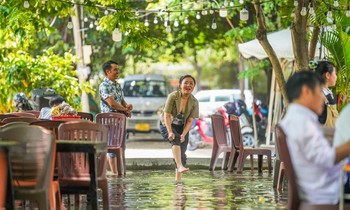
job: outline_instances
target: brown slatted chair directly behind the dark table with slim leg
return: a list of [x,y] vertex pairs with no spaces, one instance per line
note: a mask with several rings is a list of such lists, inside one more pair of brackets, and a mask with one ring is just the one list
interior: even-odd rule
[[[105,125],[89,121],[71,121],[62,123],[58,128],[58,137],[71,141],[107,142],[108,128]],[[80,194],[89,192],[89,159],[85,153],[58,153],[58,180],[62,194]],[[96,154],[97,183],[102,189],[103,209],[109,209],[108,183],[106,176],[106,153]],[[91,172],[94,173],[94,172]]]

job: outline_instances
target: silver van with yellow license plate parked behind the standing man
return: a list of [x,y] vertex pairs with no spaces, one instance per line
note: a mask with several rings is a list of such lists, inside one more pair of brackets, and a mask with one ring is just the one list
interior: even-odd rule
[[127,132],[159,132],[157,111],[164,106],[168,85],[161,75],[137,74],[124,78],[124,98],[133,105],[132,117],[126,123]]

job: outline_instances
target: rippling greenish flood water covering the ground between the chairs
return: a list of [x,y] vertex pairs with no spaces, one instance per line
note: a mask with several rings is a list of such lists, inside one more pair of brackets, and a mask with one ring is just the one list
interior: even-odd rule
[[[272,175],[193,170],[181,182],[174,171],[109,175],[111,209],[285,209],[287,194],[272,188]],[[100,202],[102,207],[102,202]]]

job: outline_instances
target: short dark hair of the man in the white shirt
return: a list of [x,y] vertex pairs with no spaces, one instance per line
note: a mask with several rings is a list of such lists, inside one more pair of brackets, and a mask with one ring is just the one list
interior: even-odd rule
[[298,99],[304,85],[315,91],[317,85],[323,85],[324,78],[309,70],[302,70],[293,74],[286,83],[288,101]]

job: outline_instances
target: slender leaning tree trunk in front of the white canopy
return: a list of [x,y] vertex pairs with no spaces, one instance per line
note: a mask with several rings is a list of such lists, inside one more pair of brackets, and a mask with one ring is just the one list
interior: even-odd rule
[[273,71],[275,72],[276,81],[278,84],[278,87],[280,89],[280,92],[284,99],[284,105],[285,107],[288,106],[288,97],[287,92],[285,88],[286,81],[284,80],[283,72],[281,64],[277,58],[277,55],[272,48],[271,44],[267,40],[266,36],[266,22],[265,22],[265,16],[260,6],[260,0],[254,0],[254,8],[256,11],[256,17],[257,17],[257,23],[258,23],[258,29],[256,32],[256,38],[259,40],[259,43],[264,48],[266,54],[268,55],[270,62],[272,64]]

